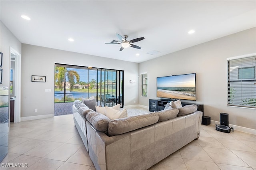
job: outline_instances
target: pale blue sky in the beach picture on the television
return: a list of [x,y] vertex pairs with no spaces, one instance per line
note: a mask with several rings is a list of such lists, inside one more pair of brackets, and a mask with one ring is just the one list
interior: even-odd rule
[[196,74],[157,77],[157,87],[195,87]]

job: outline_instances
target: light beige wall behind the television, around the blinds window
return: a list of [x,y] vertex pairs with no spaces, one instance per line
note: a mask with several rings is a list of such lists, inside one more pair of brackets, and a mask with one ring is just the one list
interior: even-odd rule
[[229,113],[230,124],[256,129],[256,109],[227,106],[226,59],[250,53],[256,53],[256,28],[142,62],[139,73],[148,73],[148,97],[140,96],[139,104],[148,106],[148,99],[156,98],[156,77],[196,73],[193,102],[204,104],[204,115],[220,121],[220,113]]

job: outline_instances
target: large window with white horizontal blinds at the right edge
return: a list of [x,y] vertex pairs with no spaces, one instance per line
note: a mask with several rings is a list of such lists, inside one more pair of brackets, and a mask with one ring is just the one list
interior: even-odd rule
[[256,55],[228,59],[228,105],[256,108]]

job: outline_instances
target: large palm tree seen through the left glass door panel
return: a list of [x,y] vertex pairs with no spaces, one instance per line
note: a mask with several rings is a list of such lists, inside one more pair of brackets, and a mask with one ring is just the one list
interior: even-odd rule
[[[76,82],[80,81],[80,75],[77,73],[77,71],[74,70],[67,70],[66,67],[55,67],[55,83],[59,87],[59,89],[62,91],[62,83],[66,83],[66,78],[68,82],[70,83],[70,92],[74,88],[75,80]],[[64,88],[64,93],[66,93],[66,88]]]

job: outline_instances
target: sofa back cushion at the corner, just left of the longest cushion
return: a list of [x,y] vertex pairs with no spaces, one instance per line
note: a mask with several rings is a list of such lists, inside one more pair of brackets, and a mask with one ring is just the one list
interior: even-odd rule
[[108,133],[108,123],[110,122],[110,119],[105,115],[91,111],[87,113],[86,119],[100,132]]

